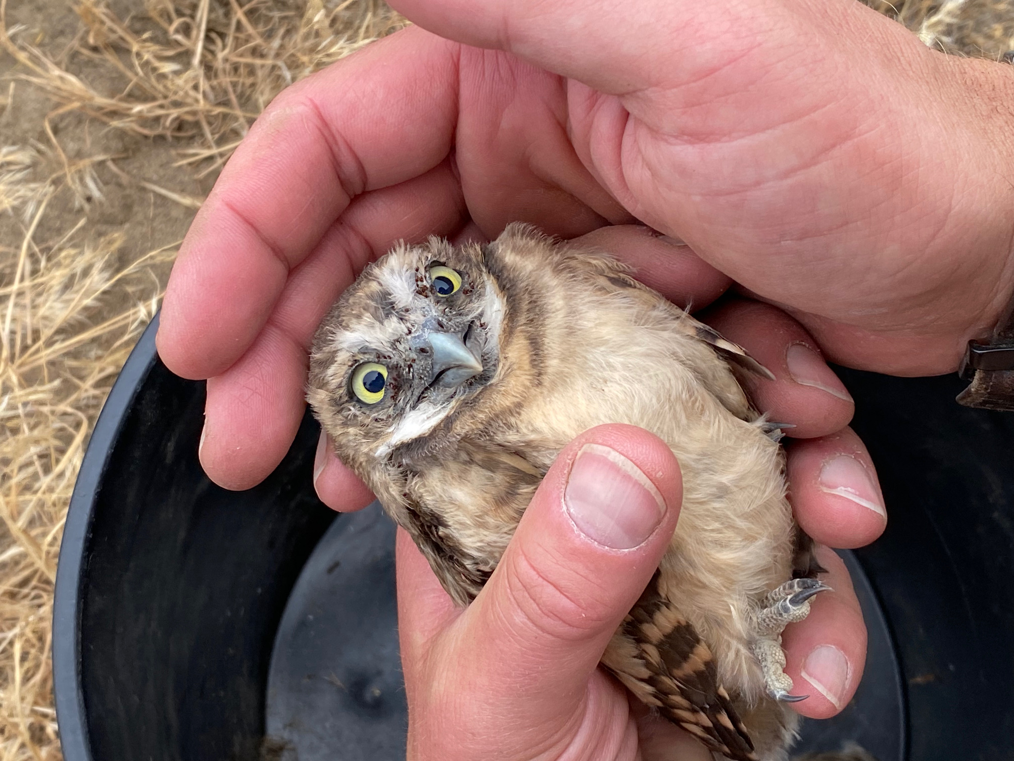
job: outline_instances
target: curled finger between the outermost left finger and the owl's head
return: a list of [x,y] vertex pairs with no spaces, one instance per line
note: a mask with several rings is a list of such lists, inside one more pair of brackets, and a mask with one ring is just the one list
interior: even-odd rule
[[289,275],[252,345],[208,380],[200,455],[215,483],[249,488],[285,457],[303,415],[313,333],[363,267],[399,239],[451,234],[465,219],[460,188],[447,161],[352,202]]

